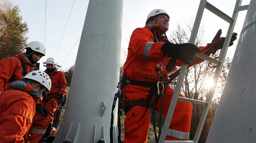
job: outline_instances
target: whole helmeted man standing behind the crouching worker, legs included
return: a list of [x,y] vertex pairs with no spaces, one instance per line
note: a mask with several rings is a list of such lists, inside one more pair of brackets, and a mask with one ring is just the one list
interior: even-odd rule
[[[25,53],[19,53],[16,57],[7,57],[0,60],[0,93],[7,90],[11,82],[21,80],[26,74],[37,70],[35,63],[46,54],[45,46],[39,41],[29,42],[24,48],[26,49]],[[48,127],[48,122],[46,122],[46,120],[50,120],[50,116],[46,116],[48,112],[48,110],[42,110],[38,101],[33,125],[29,132],[34,139],[39,138],[35,143],[44,135],[44,133],[38,134],[37,132],[43,132]]]

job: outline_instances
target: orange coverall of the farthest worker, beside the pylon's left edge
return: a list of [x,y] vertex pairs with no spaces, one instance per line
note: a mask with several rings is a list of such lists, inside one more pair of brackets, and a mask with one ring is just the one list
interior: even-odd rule
[[48,74],[48,76],[51,78],[52,87],[50,93],[48,94],[50,99],[46,99],[46,102],[41,102],[41,105],[43,107],[46,107],[50,111],[50,122],[53,122],[54,112],[59,106],[57,99],[61,94],[63,94],[64,96],[66,95],[67,81],[65,78],[65,74],[62,71],[58,71],[57,68],[55,68],[55,70],[51,73],[49,73],[47,70],[45,70],[44,72],[46,72],[46,74]]

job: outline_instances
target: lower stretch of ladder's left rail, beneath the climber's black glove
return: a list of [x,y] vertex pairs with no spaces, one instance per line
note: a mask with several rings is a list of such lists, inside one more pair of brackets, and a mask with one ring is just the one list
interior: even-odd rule
[[174,114],[174,109],[175,109],[176,103],[178,101],[178,97],[179,97],[179,94],[180,94],[180,89],[181,89],[181,86],[182,86],[182,83],[183,83],[183,80],[184,80],[184,77],[185,77],[185,74],[186,74],[186,71],[187,71],[187,67],[188,67],[187,64],[182,63],[182,67],[180,69],[180,74],[179,74],[179,77],[178,77],[178,81],[177,81],[177,84],[175,86],[174,94],[173,94],[172,99],[171,99],[171,103],[170,103],[170,106],[169,106],[169,109],[168,109],[168,112],[167,112],[167,115],[166,115],[166,118],[165,118],[165,122],[164,122],[164,125],[163,125],[161,135],[159,137],[158,143],[164,143],[165,142],[165,137],[167,135],[167,132],[168,132],[168,129],[169,129],[169,126],[170,126],[170,123],[171,123],[171,118]]

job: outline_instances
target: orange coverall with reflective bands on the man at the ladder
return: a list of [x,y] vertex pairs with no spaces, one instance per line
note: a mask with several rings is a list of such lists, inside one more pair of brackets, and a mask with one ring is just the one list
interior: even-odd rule
[[[147,27],[148,26],[148,27]],[[167,37],[156,40],[156,29],[160,32],[159,26],[146,25],[143,28],[137,28],[133,31],[128,46],[128,56],[124,63],[124,75],[130,80],[140,82],[156,83],[158,82],[157,64],[163,63],[163,79],[168,76],[171,71],[166,71],[165,67],[170,57],[163,56],[161,47],[167,41]],[[153,35],[154,34],[154,35]],[[206,47],[200,47],[201,51]],[[176,60],[176,66],[181,66],[182,61]],[[125,97],[124,102],[143,99],[147,100],[150,88],[128,84],[124,86]],[[174,89],[166,87],[163,91],[163,116],[166,117]],[[183,95],[179,95],[184,97]],[[152,105],[154,97],[151,100]],[[156,103],[156,108],[160,111],[161,97]],[[192,104],[184,101],[178,101],[166,140],[188,140],[191,125]],[[150,126],[150,115],[148,108],[136,105],[126,112],[124,120],[124,142],[125,143],[147,143],[148,129]]]

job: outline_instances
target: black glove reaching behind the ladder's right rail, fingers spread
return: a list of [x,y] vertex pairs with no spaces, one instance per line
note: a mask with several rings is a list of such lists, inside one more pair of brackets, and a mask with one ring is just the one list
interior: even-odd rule
[[[217,41],[217,40],[220,38],[221,33],[222,33],[222,30],[219,29],[219,31],[217,32],[217,34],[216,34],[215,37],[213,38],[212,43],[215,42],[215,41]],[[234,32],[234,33],[232,34],[232,37],[231,37],[229,46],[232,46],[232,45],[234,44],[233,42],[234,42],[234,40],[236,40],[236,38],[237,38],[236,36],[237,36],[237,33]],[[224,41],[225,41],[225,38],[222,39],[221,42],[219,42],[219,43],[213,48],[213,50],[216,51],[216,50],[221,49],[221,48],[223,47]],[[210,43],[210,44],[212,44],[212,43]]]

